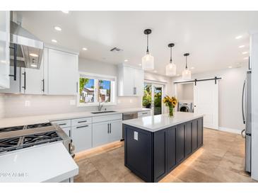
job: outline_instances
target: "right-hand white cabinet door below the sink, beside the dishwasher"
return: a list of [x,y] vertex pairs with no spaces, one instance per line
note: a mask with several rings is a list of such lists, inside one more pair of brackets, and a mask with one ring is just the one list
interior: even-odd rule
[[115,142],[122,139],[122,120],[112,120],[110,122],[110,133],[108,142]]

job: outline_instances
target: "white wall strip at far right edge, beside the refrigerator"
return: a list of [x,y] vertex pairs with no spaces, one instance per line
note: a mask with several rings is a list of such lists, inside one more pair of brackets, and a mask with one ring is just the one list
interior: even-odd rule
[[252,65],[252,178],[258,181],[258,33],[251,39]]

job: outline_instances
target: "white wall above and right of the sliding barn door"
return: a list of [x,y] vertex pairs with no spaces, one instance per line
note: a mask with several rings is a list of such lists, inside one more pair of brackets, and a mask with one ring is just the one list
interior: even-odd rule
[[[247,67],[240,67],[192,75],[192,79],[205,79],[214,76],[223,78],[218,85],[218,126],[221,130],[240,132],[245,128],[242,123],[242,84],[246,72]],[[180,80],[181,77],[173,79],[173,81]],[[175,93],[175,84],[172,84],[172,93]]]

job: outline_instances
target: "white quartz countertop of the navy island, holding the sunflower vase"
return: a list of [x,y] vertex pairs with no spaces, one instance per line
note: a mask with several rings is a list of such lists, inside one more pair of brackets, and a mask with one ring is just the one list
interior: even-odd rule
[[203,117],[203,114],[197,113],[183,113],[176,112],[173,118],[170,118],[168,114],[148,116],[144,118],[136,118],[131,120],[124,120],[123,123],[126,125],[131,125],[133,127],[138,127],[142,130],[147,130],[150,132],[156,132],[158,130],[163,130],[168,127],[172,127],[189,120],[194,120]]

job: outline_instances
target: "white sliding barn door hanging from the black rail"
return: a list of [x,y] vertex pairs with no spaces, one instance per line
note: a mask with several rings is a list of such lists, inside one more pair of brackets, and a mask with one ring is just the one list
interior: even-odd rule
[[218,130],[218,81],[198,81],[194,85],[194,113],[204,114],[204,127]]

